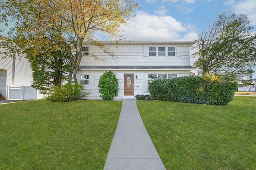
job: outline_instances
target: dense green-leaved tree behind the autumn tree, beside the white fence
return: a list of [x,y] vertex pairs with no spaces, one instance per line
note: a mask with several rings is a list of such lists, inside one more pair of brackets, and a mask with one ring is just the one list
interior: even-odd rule
[[70,70],[68,53],[55,38],[56,35],[50,34],[40,39],[30,38],[26,44],[31,45],[24,50],[33,71],[32,87],[41,94],[50,94],[56,86],[61,86],[64,80],[67,81]]

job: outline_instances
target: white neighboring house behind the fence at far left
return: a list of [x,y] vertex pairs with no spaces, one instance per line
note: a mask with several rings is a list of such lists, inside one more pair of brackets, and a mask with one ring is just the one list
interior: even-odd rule
[[[7,39],[0,35],[0,41]],[[0,48],[0,52],[4,51]],[[4,58],[3,58],[4,57]],[[31,86],[32,70],[27,59],[4,56],[0,54],[0,94],[7,97],[7,86]]]

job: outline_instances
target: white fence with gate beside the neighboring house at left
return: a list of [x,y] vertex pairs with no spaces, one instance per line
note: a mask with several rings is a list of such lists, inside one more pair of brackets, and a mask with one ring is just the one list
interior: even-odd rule
[[37,99],[37,90],[31,86],[7,86],[7,100],[35,100]]

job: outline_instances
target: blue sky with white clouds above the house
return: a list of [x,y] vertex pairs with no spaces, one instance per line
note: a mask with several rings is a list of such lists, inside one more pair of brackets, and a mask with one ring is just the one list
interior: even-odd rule
[[[135,18],[122,26],[126,40],[192,41],[208,29],[219,14],[245,14],[256,27],[256,0],[134,0]],[[256,33],[256,28],[252,30]],[[7,36],[5,33],[1,33]],[[108,40],[103,34],[99,40]],[[191,65],[194,60],[191,60]],[[256,69],[255,69],[256,71]],[[256,78],[256,73],[254,77]]]

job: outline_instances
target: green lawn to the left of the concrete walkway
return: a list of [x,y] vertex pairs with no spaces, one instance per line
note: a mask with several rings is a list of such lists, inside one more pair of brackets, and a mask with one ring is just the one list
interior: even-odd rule
[[103,169],[121,107],[93,100],[0,105],[0,169]]

